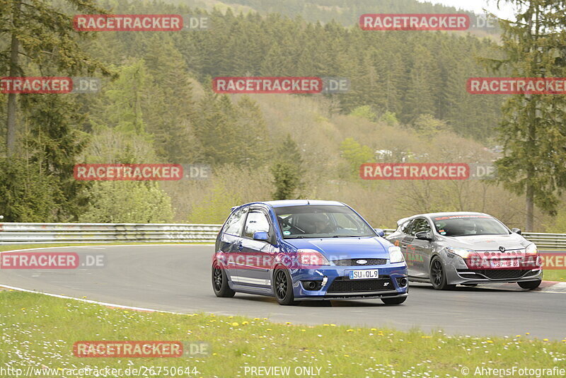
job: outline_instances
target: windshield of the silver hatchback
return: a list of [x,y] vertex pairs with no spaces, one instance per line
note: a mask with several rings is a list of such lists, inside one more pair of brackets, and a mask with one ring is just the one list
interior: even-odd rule
[[487,215],[449,215],[433,217],[434,227],[443,236],[502,235],[509,229]]

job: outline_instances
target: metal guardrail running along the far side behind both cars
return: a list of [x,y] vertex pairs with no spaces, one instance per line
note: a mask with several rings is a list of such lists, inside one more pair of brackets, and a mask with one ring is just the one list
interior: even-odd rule
[[[221,224],[0,223],[0,244],[212,242]],[[383,229],[390,235],[394,229]],[[566,234],[524,232],[539,248],[565,249]]]

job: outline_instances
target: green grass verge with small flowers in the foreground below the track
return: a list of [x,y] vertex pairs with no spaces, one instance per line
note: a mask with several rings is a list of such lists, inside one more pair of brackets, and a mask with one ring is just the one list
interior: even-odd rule
[[[566,340],[536,340],[526,333],[487,338],[333,324],[301,326],[241,316],[110,309],[8,290],[0,291],[0,314],[0,367],[24,370],[29,365],[196,367],[200,373],[191,377],[245,377],[246,366],[288,366],[291,371],[306,366],[320,367],[320,377],[461,377],[464,366],[474,370],[566,364]],[[211,353],[161,359],[79,358],[72,354],[72,345],[79,340],[202,341],[211,345]]]

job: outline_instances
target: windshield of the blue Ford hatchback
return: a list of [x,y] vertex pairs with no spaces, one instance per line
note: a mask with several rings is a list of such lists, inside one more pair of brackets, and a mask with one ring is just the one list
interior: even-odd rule
[[276,207],[284,239],[376,236],[350,207],[303,205]]

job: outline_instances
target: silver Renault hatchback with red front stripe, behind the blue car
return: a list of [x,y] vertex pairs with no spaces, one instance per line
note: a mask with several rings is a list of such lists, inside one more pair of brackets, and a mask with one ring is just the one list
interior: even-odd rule
[[536,245],[488,214],[438,212],[400,219],[387,239],[399,246],[409,280],[434,289],[490,282],[541,285],[543,270]]

